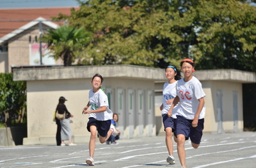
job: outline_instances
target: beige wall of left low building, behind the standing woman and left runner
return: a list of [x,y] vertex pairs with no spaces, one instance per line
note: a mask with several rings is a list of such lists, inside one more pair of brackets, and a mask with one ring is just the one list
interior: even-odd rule
[[[86,129],[88,115],[81,115],[81,112],[88,102],[88,91],[92,89],[90,81],[91,79],[27,81],[28,138],[24,139],[24,144],[30,144],[31,139],[33,139],[33,143],[37,142],[38,144],[55,142],[56,123],[52,122],[52,118],[60,96],[64,96],[68,100],[65,104],[68,111],[74,115],[74,118],[72,118],[74,123],[70,124],[73,140],[75,143],[88,142],[90,136],[90,132]],[[124,94],[129,88],[133,88],[135,93],[138,89],[142,89],[145,93],[147,90],[154,92],[154,82],[146,80],[136,80],[134,82],[128,78],[104,78],[102,88],[104,87],[113,89],[114,104],[113,108],[111,108],[113,113],[117,113],[118,100],[116,98],[116,90],[118,88],[122,88]],[[126,97],[126,94],[124,97]],[[126,109],[128,108],[126,101],[124,103],[125,113],[127,113]],[[136,117],[135,113],[136,109],[134,117]],[[127,116],[127,114],[124,115]],[[154,114],[152,118],[154,120]],[[120,120],[118,124],[124,126],[122,138],[128,138],[127,120]],[[136,137],[138,136],[136,134],[136,129],[138,129],[136,124],[134,129],[134,137]],[[144,129],[143,136],[148,136],[146,134],[148,128],[145,123]],[[153,132],[153,136],[156,136],[155,124],[153,130],[150,131]]]

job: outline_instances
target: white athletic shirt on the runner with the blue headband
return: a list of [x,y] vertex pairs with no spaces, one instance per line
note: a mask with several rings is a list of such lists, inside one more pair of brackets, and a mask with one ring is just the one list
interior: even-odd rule
[[[172,106],[172,104],[167,104],[166,101],[169,99],[174,99],[177,95],[176,84],[177,84],[177,81],[175,81],[174,83],[168,83],[168,82],[164,83],[162,115],[168,113],[170,107]],[[178,104],[172,110],[172,118],[177,118],[176,117],[177,106]]]

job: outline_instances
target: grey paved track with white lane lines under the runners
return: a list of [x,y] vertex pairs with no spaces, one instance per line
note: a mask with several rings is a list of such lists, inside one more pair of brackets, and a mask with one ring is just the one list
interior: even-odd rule
[[[117,145],[96,144],[94,167],[180,167],[166,162],[164,137],[121,139]],[[198,149],[186,141],[188,168],[256,167],[256,132],[204,134]],[[0,167],[86,167],[88,144],[77,146],[0,146]]]

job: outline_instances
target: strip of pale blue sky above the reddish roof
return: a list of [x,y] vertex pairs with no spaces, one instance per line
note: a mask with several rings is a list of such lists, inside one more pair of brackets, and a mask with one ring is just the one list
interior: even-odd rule
[[0,0],[0,8],[40,8],[79,6],[75,0]]

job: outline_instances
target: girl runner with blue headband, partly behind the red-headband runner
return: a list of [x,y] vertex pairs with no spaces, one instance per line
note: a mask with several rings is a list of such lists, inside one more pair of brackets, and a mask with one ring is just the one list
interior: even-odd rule
[[168,82],[164,83],[163,88],[163,104],[160,106],[162,111],[164,131],[165,131],[165,143],[169,153],[166,162],[171,165],[175,164],[173,157],[173,143],[172,143],[172,132],[175,130],[175,114],[173,110],[172,117],[168,117],[167,113],[172,105],[174,98],[176,97],[176,84],[177,80],[181,79],[180,71],[175,66],[168,66],[165,69],[165,76]]

